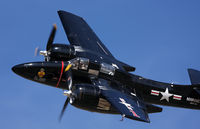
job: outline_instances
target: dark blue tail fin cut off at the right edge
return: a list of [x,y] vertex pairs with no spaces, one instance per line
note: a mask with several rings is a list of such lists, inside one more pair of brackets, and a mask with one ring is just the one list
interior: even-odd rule
[[188,69],[188,74],[192,85],[200,84],[200,71]]

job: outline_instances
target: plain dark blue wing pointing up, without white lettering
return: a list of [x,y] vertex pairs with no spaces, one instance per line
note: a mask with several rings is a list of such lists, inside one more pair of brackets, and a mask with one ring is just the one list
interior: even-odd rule
[[58,14],[71,45],[113,57],[83,18],[65,11]]

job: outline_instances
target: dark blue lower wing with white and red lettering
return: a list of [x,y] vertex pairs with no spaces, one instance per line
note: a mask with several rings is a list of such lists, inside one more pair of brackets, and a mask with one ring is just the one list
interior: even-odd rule
[[94,84],[97,83],[104,85],[99,86],[102,95],[121,113],[122,116],[138,121],[150,122],[146,104],[137,96],[129,96],[126,93],[122,93],[121,91],[112,88],[104,79],[99,79]]

